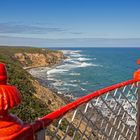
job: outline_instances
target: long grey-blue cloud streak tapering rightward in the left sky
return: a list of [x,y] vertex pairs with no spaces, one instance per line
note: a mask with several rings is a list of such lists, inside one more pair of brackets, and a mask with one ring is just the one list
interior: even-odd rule
[[63,32],[65,29],[58,27],[45,27],[39,25],[24,25],[16,23],[0,23],[0,33],[20,33],[20,34],[47,34],[50,32]]

